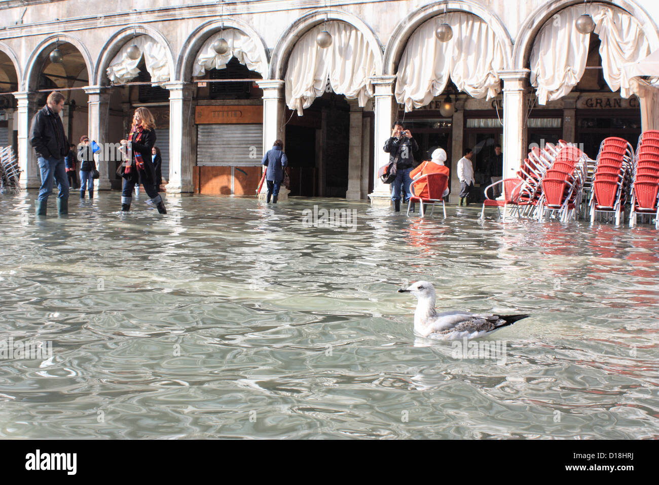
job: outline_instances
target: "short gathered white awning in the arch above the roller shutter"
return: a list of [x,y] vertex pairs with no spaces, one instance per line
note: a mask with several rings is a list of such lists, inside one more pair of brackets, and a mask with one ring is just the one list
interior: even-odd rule
[[[213,49],[213,43],[220,37],[229,44],[229,50],[221,55]],[[231,61],[231,57],[238,59],[239,63],[245,65],[250,71],[256,71],[263,77],[268,75],[268,65],[262,59],[256,42],[242,30],[236,28],[227,28],[204,42],[194,59],[192,75],[203,76],[206,71],[211,69],[224,69]]]

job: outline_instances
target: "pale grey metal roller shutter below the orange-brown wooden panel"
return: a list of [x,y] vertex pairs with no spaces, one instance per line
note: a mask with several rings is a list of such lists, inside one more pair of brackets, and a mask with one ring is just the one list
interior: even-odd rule
[[197,125],[198,166],[258,166],[263,157],[263,125]]

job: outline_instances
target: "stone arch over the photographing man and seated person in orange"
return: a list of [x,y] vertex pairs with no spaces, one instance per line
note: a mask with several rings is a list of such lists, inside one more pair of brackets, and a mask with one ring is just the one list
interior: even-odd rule
[[409,40],[416,28],[426,22],[426,20],[442,15],[444,8],[447,12],[470,13],[484,20],[494,30],[494,33],[500,40],[505,52],[505,69],[510,69],[511,59],[513,58],[513,42],[501,19],[483,5],[471,0],[441,0],[416,9],[410,15],[403,18],[393,30],[391,38],[387,42],[387,48],[384,51],[385,75],[395,75],[398,61],[401,55],[403,55],[405,46],[407,46],[407,40]]

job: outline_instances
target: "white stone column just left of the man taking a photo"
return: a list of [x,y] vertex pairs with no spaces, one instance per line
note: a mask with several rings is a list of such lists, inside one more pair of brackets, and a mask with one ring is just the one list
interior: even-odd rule
[[391,186],[382,183],[378,178],[378,169],[389,163],[389,154],[382,147],[391,137],[391,123],[395,115],[395,100],[393,97],[393,84],[395,76],[374,76],[371,82],[375,86],[375,136],[374,149],[374,171],[373,191],[368,194],[371,203],[391,204]]

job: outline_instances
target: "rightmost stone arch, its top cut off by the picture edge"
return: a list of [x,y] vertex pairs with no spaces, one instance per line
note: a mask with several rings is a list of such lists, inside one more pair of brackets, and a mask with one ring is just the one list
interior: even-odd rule
[[[603,5],[618,7],[629,13],[638,20],[643,33],[648,38],[652,50],[659,48],[659,34],[656,23],[634,0],[602,0],[595,1]],[[515,40],[515,49],[513,49],[513,66],[514,69],[525,69],[529,67],[529,55],[535,42],[536,36],[544,24],[556,15],[559,11],[572,7],[573,5],[583,5],[581,0],[554,0],[548,2],[542,7],[536,9],[527,16],[526,20],[519,27],[519,34]]]

